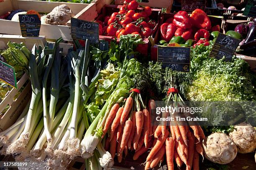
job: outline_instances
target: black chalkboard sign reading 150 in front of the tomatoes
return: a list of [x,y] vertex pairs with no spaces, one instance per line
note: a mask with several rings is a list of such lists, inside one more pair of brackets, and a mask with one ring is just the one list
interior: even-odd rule
[[91,44],[99,43],[99,23],[71,18],[71,36],[78,40],[90,40]]

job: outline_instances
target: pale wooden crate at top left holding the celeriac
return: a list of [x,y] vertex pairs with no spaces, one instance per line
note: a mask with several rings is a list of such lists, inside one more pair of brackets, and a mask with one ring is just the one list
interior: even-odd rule
[[[96,4],[80,4],[80,3],[66,3],[66,2],[48,2],[48,1],[36,1],[36,0],[5,0],[0,2],[0,15],[11,10],[36,10],[39,13],[49,13],[51,10],[62,4],[67,4],[72,12],[75,14],[74,18],[80,20],[94,20],[97,16]],[[21,35],[19,22],[10,20],[0,20],[0,33]],[[69,27],[70,21],[67,26],[63,25],[49,25],[42,24],[40,29],[40,35],[46,36],[46,39],[56,40],[59,37],[63,37],[66,41],[72,41],[71,29]]]

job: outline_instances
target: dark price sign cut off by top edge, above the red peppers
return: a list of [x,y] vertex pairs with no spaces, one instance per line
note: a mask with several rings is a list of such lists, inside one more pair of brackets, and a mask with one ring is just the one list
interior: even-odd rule
[[206,0],[182,0],[182,10],[193,11],[195,9],[205,10]]

